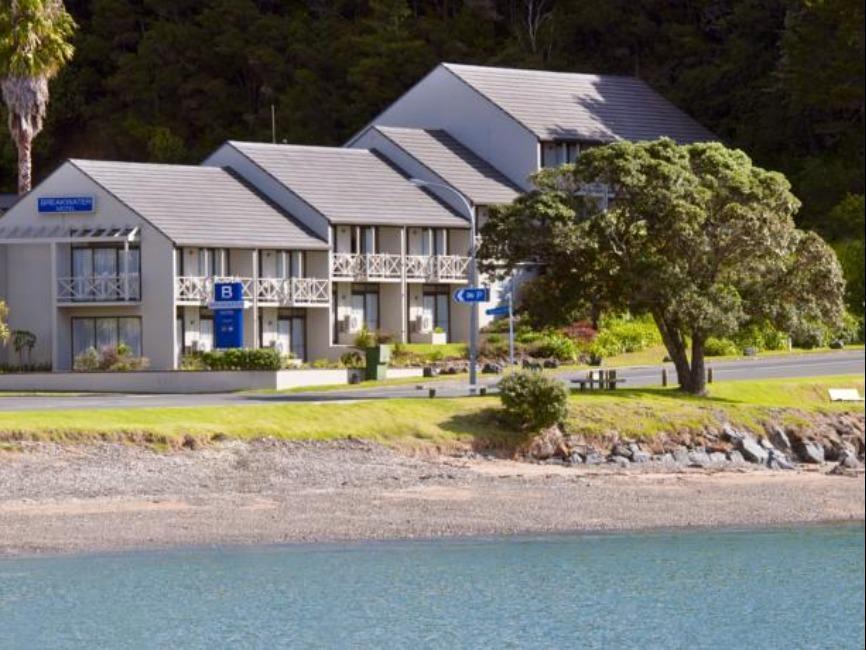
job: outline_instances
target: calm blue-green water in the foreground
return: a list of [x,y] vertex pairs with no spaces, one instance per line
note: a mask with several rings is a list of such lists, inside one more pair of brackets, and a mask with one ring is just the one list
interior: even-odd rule
[[862,648],[862,526],[0,561],[2,648]]

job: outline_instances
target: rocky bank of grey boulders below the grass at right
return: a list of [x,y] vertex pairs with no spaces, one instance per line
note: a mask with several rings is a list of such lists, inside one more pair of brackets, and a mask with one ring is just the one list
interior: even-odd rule
[[[547,465],[646,466],[660,471],[686,467],[730,469],[744,466],[794,470],[800,465],[832,463],[835,474],[863,470],[863,414],[816,414],[797,424],[767,422],[757,433],[724,423],[719,428],[661,434],[635,440],[566,435],[558,426],[542,431],[518,450],[518,456]],[[469,457],[476,457],[472,452]]]

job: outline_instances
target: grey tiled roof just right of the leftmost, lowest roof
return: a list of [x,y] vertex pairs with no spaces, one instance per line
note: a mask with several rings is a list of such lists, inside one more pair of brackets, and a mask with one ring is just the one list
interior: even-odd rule
[[331,223],[465,227],[466,220],[367,149],[258,142],[230,146]]

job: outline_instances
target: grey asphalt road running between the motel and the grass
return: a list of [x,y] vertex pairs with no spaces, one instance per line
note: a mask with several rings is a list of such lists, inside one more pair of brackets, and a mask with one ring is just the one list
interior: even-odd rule
[[[676,380],[670,364],[667,364],[671,383]],[[710,363],[715,381],[732,379],[767,379],[784,377],[811,377],[820,375],[859,374],[866,372],[866,356],[863,350],[830,352],[825,354],[793,355],[786,357],[761,357],[737,361]],[[586,371],[563,372],[564,381],[574,377],[585,377]],[[617,376],[626,380],[626,387],[657,386],[661,384],[661,366],[617,368]],[[492,386],[498,380],[493,376],[482,376],[482,383]],[[419,389],[422,386],[423,389]],[[439,380],[401,386],[379,388],[347,388],[346,390],[304,393],[208,393],[186,395],[139,395],[121,393],[99,393],[86,395],[32,395],[16,396],[0,393],[0,411],[36,411],[94,408],[139,408],[164,406],[256,406],[288,402],[330,402],[395,397],[427,398],[427,388],[435,388],[437,396],[457,397],[467,394],[465,378],[449,381]]]

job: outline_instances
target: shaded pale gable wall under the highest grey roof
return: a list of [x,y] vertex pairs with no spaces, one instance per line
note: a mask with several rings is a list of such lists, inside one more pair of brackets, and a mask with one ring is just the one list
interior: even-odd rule
[[[540,150],[535,135],[442,66],[372,123],[445,129],[525,190],[531,187],[528,177],[539,168]],[[347,146],[355,146],[356,139]]]

